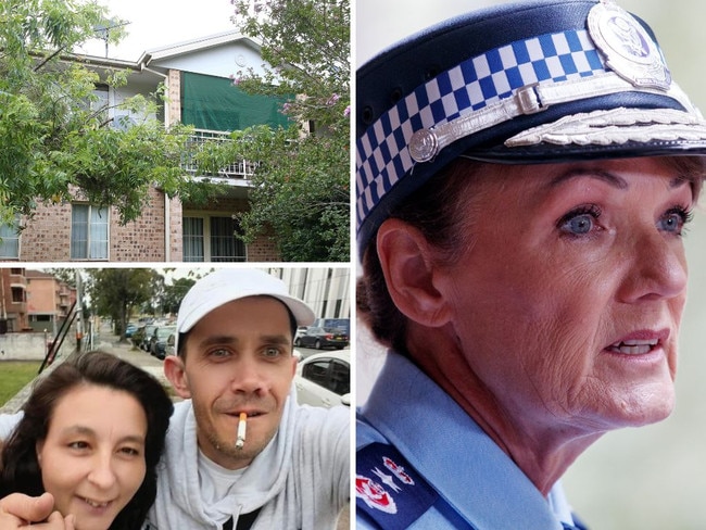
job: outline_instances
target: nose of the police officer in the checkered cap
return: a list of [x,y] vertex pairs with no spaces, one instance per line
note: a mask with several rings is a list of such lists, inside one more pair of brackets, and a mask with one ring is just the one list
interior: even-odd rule
[[631,267],[623,285],[626,302],[673,299],[686,291],[686,257],[680,239],[645,230],[633,239]]

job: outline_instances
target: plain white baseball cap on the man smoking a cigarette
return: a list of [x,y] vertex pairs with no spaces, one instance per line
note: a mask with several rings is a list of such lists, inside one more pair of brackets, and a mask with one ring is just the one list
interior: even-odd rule
[[197,281],[181,301],[177,315],[177,333],[189,331],[216,307],[247,296],[274,296],[294,315],[298,326],[311,326],[314,312],[303,301],[289,294],[279,278],[254,268],[220,268]]

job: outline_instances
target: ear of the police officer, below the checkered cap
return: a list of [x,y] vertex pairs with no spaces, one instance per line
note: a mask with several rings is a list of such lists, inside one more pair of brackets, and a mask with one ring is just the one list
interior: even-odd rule
[[424,326],[446,324],[449,308],[434,285],[438,265],[427,238],[403,220],[387,219],[378,229],[377,250],[388,291],[402,314]]

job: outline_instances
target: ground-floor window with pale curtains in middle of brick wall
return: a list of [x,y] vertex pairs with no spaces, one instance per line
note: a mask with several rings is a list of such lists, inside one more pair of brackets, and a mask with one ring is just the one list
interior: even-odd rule
[[108,209],[73,204],[71,258],[108,260]]

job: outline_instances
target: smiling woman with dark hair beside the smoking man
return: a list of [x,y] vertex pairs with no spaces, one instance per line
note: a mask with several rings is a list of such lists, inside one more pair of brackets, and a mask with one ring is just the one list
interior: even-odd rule
[[140,528],[172,412],[140,368],[103,352],[67,359],[34,389],[2,446],[0,499],[48,492],[78,530]]

